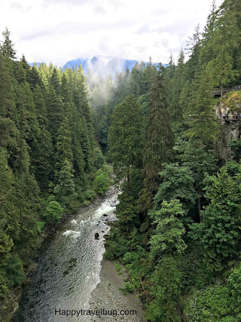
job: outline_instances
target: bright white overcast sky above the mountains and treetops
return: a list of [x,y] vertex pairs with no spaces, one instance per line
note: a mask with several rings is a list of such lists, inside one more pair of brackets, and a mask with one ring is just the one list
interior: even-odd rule
[[[217,0],[217,5],[221,4]],[[29,62],[94,55],[168,62],[178,55],[212,0],[8,0],[0,1],[0,29],[6,26],[18,56]]]

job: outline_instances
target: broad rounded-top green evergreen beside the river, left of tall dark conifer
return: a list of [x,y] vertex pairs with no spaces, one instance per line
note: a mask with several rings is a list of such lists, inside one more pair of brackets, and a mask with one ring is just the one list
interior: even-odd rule
[[116,215],[120,229],[129,235],[139,224],[138,192],[141,189],[143,150],[142,110],[133,95],[115,107],[111,116],[108,144],[114,173],[118,180],[125,179]]

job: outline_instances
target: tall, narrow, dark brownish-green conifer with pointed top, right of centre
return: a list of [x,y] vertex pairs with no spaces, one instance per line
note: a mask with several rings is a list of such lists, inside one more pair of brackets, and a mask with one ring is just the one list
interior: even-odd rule
[[144,189],[140,196],[144,211],[152,208],[152,201],[160,183],[158,173],[162,170],[162,164],[170,162],[173,157],[174,138],[167,110],[166,90],[163,85],[163,67],[161,64],[159,68],[159,75],[156,76],[150,92],[147,111],[143,170]]

